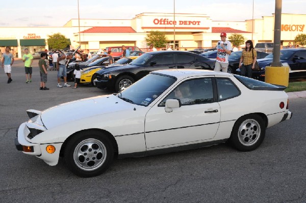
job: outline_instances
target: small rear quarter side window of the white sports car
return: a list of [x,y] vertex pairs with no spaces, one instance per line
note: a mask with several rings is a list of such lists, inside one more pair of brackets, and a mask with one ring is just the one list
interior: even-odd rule
[[218,101],[223,101],[228,98],[236,97],[240,91],[229,78],[216,78],[218,89]]

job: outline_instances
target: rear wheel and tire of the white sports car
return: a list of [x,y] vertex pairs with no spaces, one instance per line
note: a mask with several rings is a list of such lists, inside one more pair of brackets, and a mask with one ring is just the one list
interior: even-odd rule
[[237,150],[247,152],[257,149],[265,134],[264,120],[257,114],[249,114],[236,121],[229,141]]

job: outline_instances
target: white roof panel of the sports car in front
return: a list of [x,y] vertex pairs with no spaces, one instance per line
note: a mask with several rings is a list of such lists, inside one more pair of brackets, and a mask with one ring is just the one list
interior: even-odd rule
[[152,71],[151,73],[159,73],[164,75],[169,75],[176,77],[177,79],[182,79],[191,76],[233,76],[230,73],[223,73],[223,72],[215,72],[211,70],[200,70],[200,69],[171,69],[171,70],[158,70]]

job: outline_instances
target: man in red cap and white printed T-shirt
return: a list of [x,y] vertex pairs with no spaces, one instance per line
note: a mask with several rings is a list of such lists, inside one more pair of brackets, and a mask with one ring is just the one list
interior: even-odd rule
[[227,72],[228,67],[228,55],[232,53],[232,44],[226,40],[226,33],[220,34],[221,40],[217,43],[217,60],[214,71]]

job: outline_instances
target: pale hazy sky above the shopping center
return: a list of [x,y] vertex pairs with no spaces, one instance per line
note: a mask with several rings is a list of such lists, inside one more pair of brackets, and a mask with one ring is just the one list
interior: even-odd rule
[[[245,21],[271,16],[275,0],[79,0],[80,19],[132,19],[140,13],[206,14],[214,21]],[[15,6],[16,5],[16,6]],[[306,0],[283,0],[282,13],[306,14]],[[1,4],[0,27],[63,26],[78,19],[78,0],[14,0]]]

